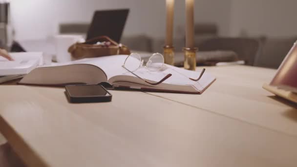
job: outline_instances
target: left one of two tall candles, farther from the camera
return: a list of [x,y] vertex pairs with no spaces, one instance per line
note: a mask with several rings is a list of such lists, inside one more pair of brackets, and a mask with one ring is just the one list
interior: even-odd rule
[[174,0],[166,0],[166,45],[172,46]]

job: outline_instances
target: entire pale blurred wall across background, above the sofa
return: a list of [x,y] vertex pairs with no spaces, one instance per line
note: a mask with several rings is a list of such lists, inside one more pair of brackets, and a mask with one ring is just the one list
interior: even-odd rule
[[[130,8],[124,35],[165,36],[165,0],[10,0],[17,40],[59,33],[59,24],[89,23],[100,9]],[[221,36],[296,35],[296,0],[195,0],[195,22]],[[185,1],[175,0],[175,37],[184,35]]]

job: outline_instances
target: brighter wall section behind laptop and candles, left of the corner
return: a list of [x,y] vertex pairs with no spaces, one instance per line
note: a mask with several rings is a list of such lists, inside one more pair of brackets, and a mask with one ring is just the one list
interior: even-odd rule
[[[185,0],[175,0],[175,37],[184,36]],[[164,38],[165,0],[11,0],[17,40],[58,33],[59,22],[89,22],[99,9],[130,8],[124,35]],[[195,21],[214,22],[221,35],[230,33],[231,0],[196,0]]]

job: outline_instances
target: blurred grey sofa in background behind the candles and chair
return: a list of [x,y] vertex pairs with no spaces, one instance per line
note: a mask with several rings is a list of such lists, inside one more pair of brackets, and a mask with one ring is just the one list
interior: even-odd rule
[[[201,46],[200,50],[203,49],[205,42],[208,42],[209,39],[212,39],[213,36],[201,36],[195,38],[195,44]],[[218,38],[220,39],[220,38]],[[222,38],[223,39],[223,38]],[[258,50],[253,52],[252,55],[244,56],[244,59],[249,60],[247,65],[267,67],[267,68],[278,68],[284,57],[289,52],[290,48],[293,46],[294,42],[297,40],[297,37],[288,37],[288,38],[267,38],[267,37],[258,37],[250,38],[254,41],[258,41],[259,47]],[[140,35],[134,37],[123,37],[122,41],[132,50],[139,50],[145,52],[163,52],[164,39],[151,39],[148,36]],[[182,48],[185,46],[184,39],[174,39],[173,45],[176,52],[181,52]],[[243,44],[242,50],[245,50],[245,45]],[[247,47],[250,47],[247,45]],[[238,49],[238,48],[237,48]],[[214,49],[217,50],[217,49]],[[231,49],[232,50],[232,49]],[[235,51],[235,50],[233,50]],[[236,52],[236,51],[235,51]],[[237,53],[237,52],[236,52]],[[238,54],[241,58],[240,54]]]

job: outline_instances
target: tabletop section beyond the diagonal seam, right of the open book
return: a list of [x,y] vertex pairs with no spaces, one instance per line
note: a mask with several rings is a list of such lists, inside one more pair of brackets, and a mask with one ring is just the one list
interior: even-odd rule
[[216,81],[202,96],[149,94],[297,137],[297,105],[262,88],[276,70],[237,65],[213,66],[206,71]]

